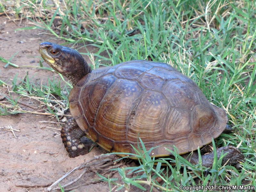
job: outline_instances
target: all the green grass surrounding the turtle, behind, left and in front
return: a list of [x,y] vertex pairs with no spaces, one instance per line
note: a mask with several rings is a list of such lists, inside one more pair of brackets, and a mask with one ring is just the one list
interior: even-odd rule
[[[171,64],[195,81],[210,102],[226,109],[228,123],[233,126],[234,132],[221,134],[215,141],[216,146],[239,144],[246,157],[240,171],[228,165],[221,166],[216,160],[217,163],[210,169],[212,174],[204,177],[201,173],[205,168],[200,164],[191,165],[176,153],[173,159],[159,160],[150,158],[147,153],[140,154],[139,167],[117,170],[122,183],[102,176],[110,190],[113,185],[117,185],[118,189],[129,189],[130,185],[143,189],[144,185],[149,185],[151,191],[157,186],[164,191],[168,191],[167,188],[179,190],[179,185],[197,185],[195,178],[199,178],[203,185],[255,186],[255,3],[255,0],[69,0],[53,9],[55,4],[43,1],[43,17],[37,17],[38,22],[30,17],[35,27],[23,30],[40,28],[52,33],[55,38],[65,40],[66,44],[72,43],[71,46],[78,43],[85,48],[94,46],[94,57],[91,58],[96,68],[134,59]],[[22,7],[13,5],[10,8],[2,3],[0,11],[13,12],[16,17],[24,17],[25,12],[38,16],[33,4],[36,5],[35,0],[22,4]],[[54,21],[59,19],[62,23],[53,29]],[[84,54],[90,56],[89,52]],[[0,80],[0,84],[4,84],[2,82]],[[53,92],[53,96],[58,95],[59,100],[64,100],[63,108],[68,108],[67,86],[60,88],[58,82],[52,84],[51,80],[48,85],[43,85],[45,89],[41,89],[41,85],[28,82],[24,80],[17,85],[13,81],[12,91],[20,96],[24,96],[24,92],[25,95],[40,96],[46,105]],[[61,90],[66,90],[67,94],[63,95]],[[11,98],[10,95],[9,105],[17,106]],[[7,108],[0,109],[3,115],[10,112]],[[48,112],[57,113],[52,109]],[[169,165],[170,161],[176,165]],[[157,162],[156,166],[154,162]],[[161,166],[164,163],[168,166]],[[129,178],[129,172],[143,174]],[[162,177],[164,182],[155,182],[156,177]]]

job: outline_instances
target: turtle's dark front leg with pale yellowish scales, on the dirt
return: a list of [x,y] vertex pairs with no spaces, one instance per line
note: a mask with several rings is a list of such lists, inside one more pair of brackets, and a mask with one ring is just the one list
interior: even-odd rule
[[85,136],[85,132],[78,127],[74,118],[69,119],[61,129],[61,138],[69,157],[88,153],[93,144],[92,140]]

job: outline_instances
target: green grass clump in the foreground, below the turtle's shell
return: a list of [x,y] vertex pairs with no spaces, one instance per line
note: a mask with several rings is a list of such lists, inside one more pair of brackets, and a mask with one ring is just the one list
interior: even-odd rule
[[[214,140],[212,141],[213,148],[216,150]],[[214,156],[212,169],[210,169],[210,174],[204,175],[204,171],[209,171],[209,169],[202,166],[199,149],[199,163],[193,165],[180,156],[177,153],[177,150],[169,150],[173,155],[172,157],[158,159],[150,157],[150,151],[152,148],[147,151],[142,140],[140,140],[139,143],[140,145],[138,145],[138,147],[133,147],[136,154],[114,153],[125,154],[139,159],[140,166],[113,169],[113,171],[115,170],[119,173],[123,184],[116,182],[117,178],[106,178],[98,174],[101,180],[106,181],[109,184],[116,185],[118,187],[116,190],[125,188],[129,191],[131,185],[133,185],[142,190],[146,190],[145,186],[149,186],[150,191],[152,191],[153,188],[158,188],[163,191],[179,191],[181,185],[184,187],[200,185],[204,186],[205,189],[206,185],[211,185],[213,187],[219,185],[242,185],[241,181],[248,176],[248,173],[246,173],[245,170],[238,172],[233,166],[222,166],[221,160],[225,154],[221,154],[220,159],[217,159],[216,154]],[[137,148],[139,148],[139,150]],[[175,164],[175,166],[173,166],[173,164]],[[227,174],[225,170],[228,170],[229,174]],[[136,176],[130,178],[129,174],[131,173],[134,173]],[[227,178],[230,177],[237,177],[238,174],[240,175],[236,178],[236,182],[227,180]],[[162,185],[158,183],[157,178],[162,180]],[[198,179],[200,180],[200,183],[198,183]],[[144,185],[144,187],[142,185]],[[255,181],[253,181],[251,185],[255,185]],[[218,189],[218,187],[216,188]]]

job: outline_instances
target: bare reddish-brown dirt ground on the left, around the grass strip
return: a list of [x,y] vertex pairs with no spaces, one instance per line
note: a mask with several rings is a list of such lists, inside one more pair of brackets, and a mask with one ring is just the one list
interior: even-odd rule
[[[38,66],[39,43],[44,41],[60,43],[60,41],[40,30],[15,31],[15,29],[28,26],[26,21],[16,25],[5,16],[0,17],[0,56],[9,60],[17,52],[12,63]],[[81,52],[81,50],[79,51]],[[85,59],[90,63],[89,58]],[[35,84],[41,84],[42,80],[47,84],[47,78],[59,78],[58,74],[47,70],[31,67],[14,68],[12,66],[3,68],[4,65],[5,63],[0,62],[0,79],[8,84],[11,84],[12,78],[16,74],[20,80],[27,72],[30,81]],[[44,63],[44,67],[49,66]],[[0,97],[3,97],[6,92],[5,88],[0,88]],[[28,102],[27,99],[22,98],[19,101]],[[32,100],[30,100],[30,104],[33,105]],[[23,105],[20,107],[24,110],[31,110]],[[20,132],[15,132],[17,137],[15,139],[12,132],[0,129],[0,191],[44,191],[44,187],[51,185],[66,172],[88,161],[93,156],[106,152],[99,147],[94,147],[85,156],[69,158],[62,144],[60,132],[46,128],[46,126],[60,128],[60,125],[43,124],[39,123],[40,121],[56,121],[56,119],[28,113],[0,116],[0,127],[12,126],[12,128],[20,130]],[[93,173],[93,175],[95,174]],[[88,173],[83,177],[82,182],[91,179],[93,179],[92,174]],[[109,188],[107,183],[100,182],[74,191],[104,192],[109,191]]]

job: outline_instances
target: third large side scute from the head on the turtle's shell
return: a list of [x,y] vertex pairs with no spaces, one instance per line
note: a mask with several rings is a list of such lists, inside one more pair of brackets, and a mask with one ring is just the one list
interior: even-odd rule
[[138,136],[144,142],[164,139],[163,119],[167,110],[167,102],[161,93],[144,91],[134,116],[129,120],[128,140],[136,142]]

